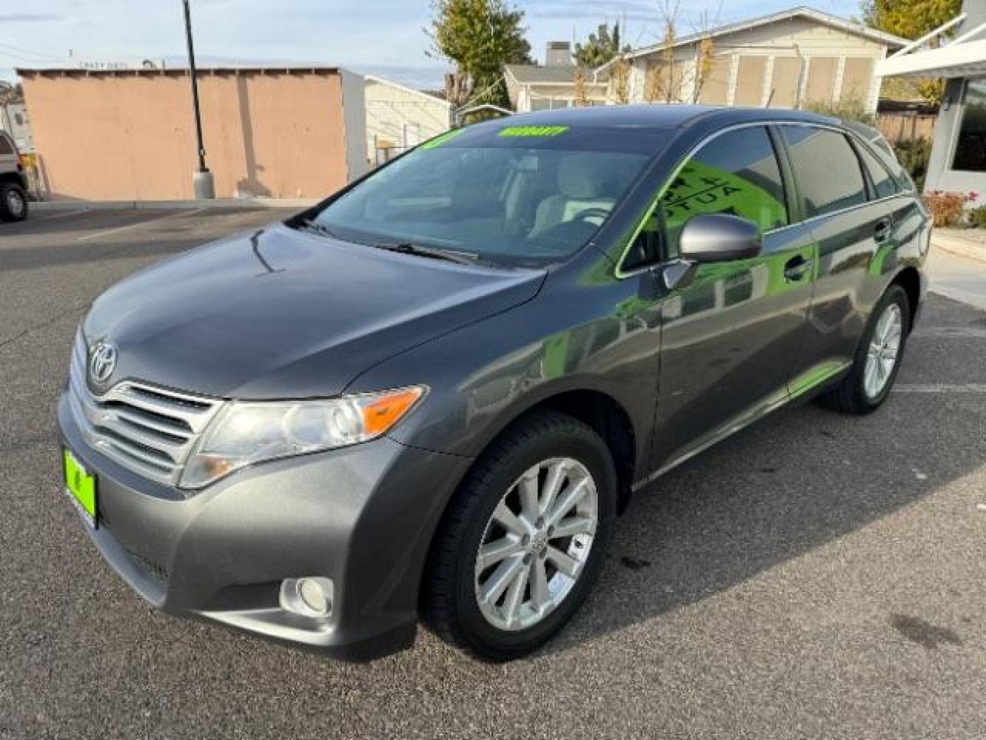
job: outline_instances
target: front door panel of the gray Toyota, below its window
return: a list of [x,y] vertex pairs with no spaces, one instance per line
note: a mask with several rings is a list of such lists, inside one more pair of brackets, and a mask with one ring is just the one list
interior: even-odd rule
[[811,300],[810,230],[768,234],[755,259],[703,265],[695,281],[662,305],[661,393],[651,469],[690,454],[751,408],[786,397]]

